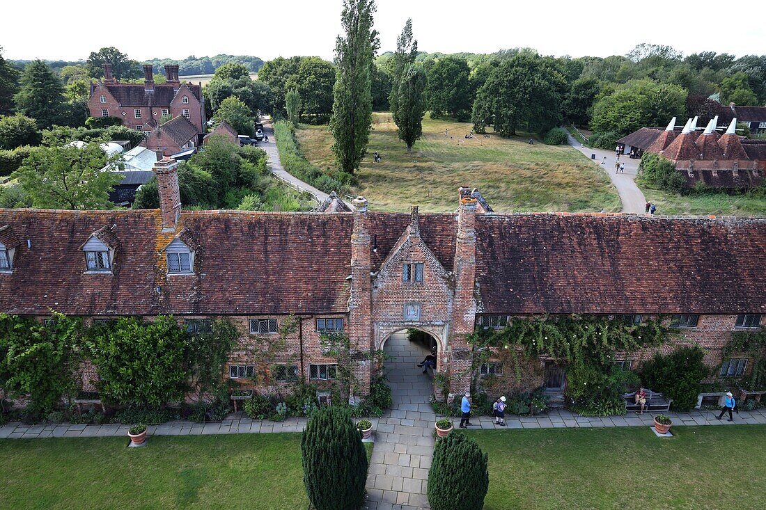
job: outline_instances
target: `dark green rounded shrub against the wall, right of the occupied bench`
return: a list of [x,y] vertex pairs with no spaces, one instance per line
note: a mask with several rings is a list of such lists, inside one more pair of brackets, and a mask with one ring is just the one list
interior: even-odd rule
[[640,367],[645,387],[673,399],[675,410],[689,410],[697,404],[702,379],[709,369],[702,362],[705,351],[699,346],[681,347],[669,355],[657,353]]

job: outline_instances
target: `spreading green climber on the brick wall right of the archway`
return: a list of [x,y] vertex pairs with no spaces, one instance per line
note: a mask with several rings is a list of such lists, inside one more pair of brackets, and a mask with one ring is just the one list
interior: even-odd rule
[[624,414],[620,394],[639,384],[633,372],[614,365],[614,353],[656,347],[676,332],[659,320],[640,325],[606,317],[544,315],[511,319],[499,330],[482,330],[470,336],[473,373],[489,358],[499,358],[520,378],[522,361],[553,358],[568,365],[567,397],[584,414]]

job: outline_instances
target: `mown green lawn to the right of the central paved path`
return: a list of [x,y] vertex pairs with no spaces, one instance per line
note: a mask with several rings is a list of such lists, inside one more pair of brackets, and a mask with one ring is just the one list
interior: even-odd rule
[[484,510],[766,508],[766,426],[483,430]]

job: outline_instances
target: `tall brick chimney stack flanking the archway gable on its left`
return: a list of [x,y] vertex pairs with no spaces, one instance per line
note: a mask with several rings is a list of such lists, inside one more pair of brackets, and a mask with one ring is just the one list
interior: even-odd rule
[[[354,206],[354,225],[351,234],[351,299],[349,299],[349,341],[355,351],[372,349],[372,269],[370,233],[368,231],[367,199],[357,197]],[[360,360],[354,374],[359,386],[356,395],[369,393],[372,368],[369,360]]]

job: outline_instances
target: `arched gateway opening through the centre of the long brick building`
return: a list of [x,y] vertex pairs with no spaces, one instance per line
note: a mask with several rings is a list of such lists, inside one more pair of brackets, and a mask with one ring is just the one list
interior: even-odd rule
[[391,333],[383,344],[387,355],[384,368],[394,399],[394,409],[424,410],[419,404],[428,404],[434,394],[435,370],[423,373],[418,367],[432,349],[438,349],[432,335],[414,329]]

